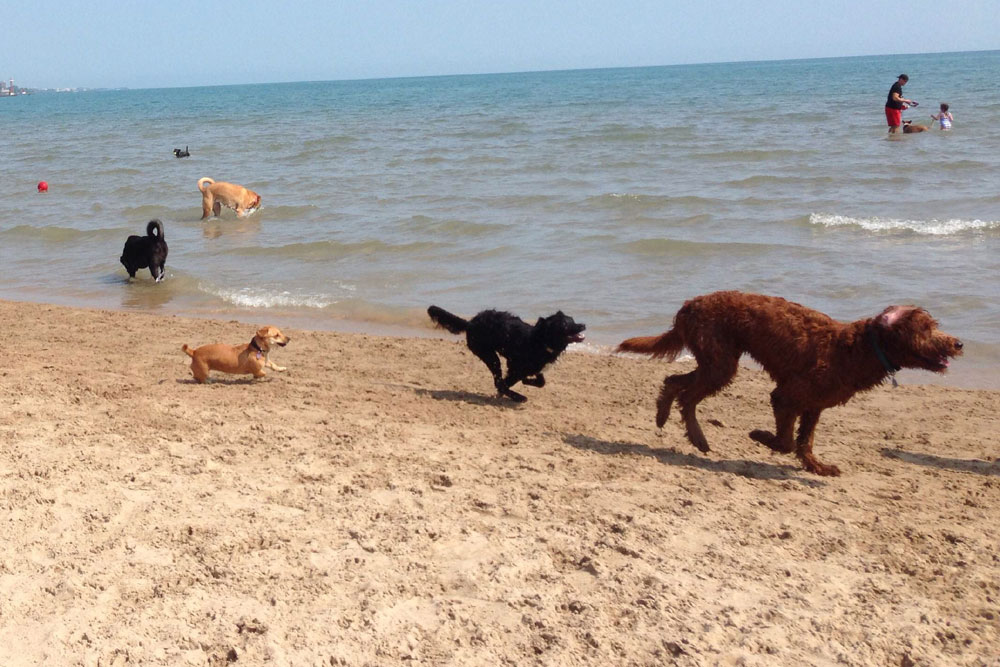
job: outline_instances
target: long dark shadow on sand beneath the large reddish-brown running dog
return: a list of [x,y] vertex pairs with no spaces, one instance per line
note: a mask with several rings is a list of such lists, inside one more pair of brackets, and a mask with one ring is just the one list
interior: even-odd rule
[[587,435],[564,434],[563,442],[576,449],[585,449],[598,454],[630,454],[648,456],[660,463],[672,466],[691,466],[708,472],[728,473],[750,479],[790,480],[805,486],[819,488],[826,486],[819,478],[805,477],[798,466],[746,461],[742,459],[715,460],[698,454],[677,452],[673,449],[654,449],[634,442],[609,442]]

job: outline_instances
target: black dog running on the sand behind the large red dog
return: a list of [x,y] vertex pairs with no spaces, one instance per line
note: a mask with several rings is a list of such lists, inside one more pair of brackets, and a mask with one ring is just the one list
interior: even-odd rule
[[[587,327],[577,324],[560,310],[555,315],[538,318],[534,326],[516,315],[499,310],[484,310],[471,320],[431,306],[427,314],[441,327],[454,334],[465,332],[465,342],[474,355],[483,360],[493,374],[493,384],[501,396],[518,403],[528,400],[511,387],[518,382],[544,387],[542,369],[559,358],[570,343],[583,340]],[[500,358],[507,360],[503,377]]]

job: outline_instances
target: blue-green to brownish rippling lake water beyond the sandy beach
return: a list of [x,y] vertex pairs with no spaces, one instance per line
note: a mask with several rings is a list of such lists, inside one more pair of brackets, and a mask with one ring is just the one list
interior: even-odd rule
[[[904,117],[948,101],[952,132],[887,139],[900,71]],[[967,344],[944,381],[1000,387],[998,78],[978,52],[0,99],[0,297],[401,333],[561,308],[594,349],[717,289],[916,303]],[[262,208],[200,221],[201,176]],[[154,217],[167,279],[129,284]]]

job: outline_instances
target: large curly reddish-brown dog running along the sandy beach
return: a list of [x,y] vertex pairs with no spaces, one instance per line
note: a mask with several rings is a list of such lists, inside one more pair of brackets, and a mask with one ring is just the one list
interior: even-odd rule
[[672,361],[685,347],[698,367],[664,380],[657,426],[666,423],[676,399],[688,440],[707,452],[695,410],[732,381],[740,356],[747,353],[777,384],[771,392],[777,433],[753,431],[750,437],[777,452],[794,451],[805,469],[817,475],[840,474],[837,466],[820,463],[812,453],[823,410],[843,405],[900,368],[941,373],[950,357],[962,354],[962,341],[938,331],[934,318],[915,306],[889,306],[876,317],[843,323],[780,297],[744,292],[695,297],[677,312],[673,329],[662,336],[630,338],[618,350]]

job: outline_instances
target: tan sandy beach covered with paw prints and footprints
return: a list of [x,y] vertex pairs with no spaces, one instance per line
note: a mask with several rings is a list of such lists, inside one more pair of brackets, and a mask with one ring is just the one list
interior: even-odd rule
[[515,406],[458,338],[285,330],[197,385],[181,344],[253,325],[0,321],[2,665],[1000,664],[998,392],[856,397],[820,478],[747,438],[759,372],[701,455],[653,424],[683,362],[570,352]]

